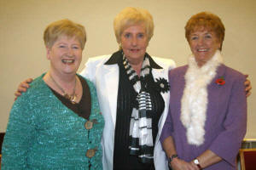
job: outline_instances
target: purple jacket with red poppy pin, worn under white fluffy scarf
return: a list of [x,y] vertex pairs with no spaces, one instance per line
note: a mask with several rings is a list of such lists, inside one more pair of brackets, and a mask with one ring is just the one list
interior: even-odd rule
[[[207,120],[205,123],[205,142],[200,146],[188,144],[186,129],[180,121],[181,99],[185,85],[184,75],[188,65],[169,72],[170,106],[160,141],[169,136],[175,141],[177,155],[184,161],[192,161],[205,150],[212,150],[222,157],[207,170],[236,169],[236,155],[247,129],[247,99],[244,91],[244,75],[226,65],[218,67],[217,76],[208,85]],[[225,84],[215,81],[224,77]]]

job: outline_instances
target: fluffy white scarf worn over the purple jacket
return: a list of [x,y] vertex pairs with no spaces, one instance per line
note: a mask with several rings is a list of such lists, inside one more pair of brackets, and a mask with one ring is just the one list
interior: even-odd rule
[[218,65],[221,63],[223,63],[223,59],[219,50],[201,67],[198,67],[194,55],[189,57],[180,116],[183,126],[187,128],[189,144],[199,146],[204,143],[208,103],[207,85],[216,76]]

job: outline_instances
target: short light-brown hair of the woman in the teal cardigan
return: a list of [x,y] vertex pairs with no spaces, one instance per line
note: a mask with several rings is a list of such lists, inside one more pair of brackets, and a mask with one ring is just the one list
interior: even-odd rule
[[44,30],[44,44],[46,47],[51,48],[55,41],[61,37],[76,37],[82,49],[86,42],[86,32],[84,26],[79,25],[72,20],[57,20]]

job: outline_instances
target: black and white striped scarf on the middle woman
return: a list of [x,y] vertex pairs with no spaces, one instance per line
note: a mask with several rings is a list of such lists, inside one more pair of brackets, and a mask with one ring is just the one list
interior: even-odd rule
[[131,113],[130,154],[138,156],[143,163],[153,162],[152,116],[147,114],[147,111],[152,110],[152,104],[144,81],[151,71],[149,60],[147,56],[143,60],[140,77],[138,77],[137,72],[133,70],[125,58],[125,54],[123,55],[123,64],[129,80],[137,92],[137,106],[132,108]]

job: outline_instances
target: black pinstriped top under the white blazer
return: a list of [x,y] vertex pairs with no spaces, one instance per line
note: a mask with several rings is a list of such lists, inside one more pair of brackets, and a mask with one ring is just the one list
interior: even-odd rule
[[[113,170],[150,170],[154,169],[154,163],[143,164],[138,161],[137,156],[131,156],[129,150],[129,133],[131,122],[131,111],[136,105],[137,92],[129,81],[129,78],[125,72],[124,65],[122,63],[122,54],[120,52],[113,54],[115,63],[119,65],[119,91],[117,99],[117,116],[114,133],[114,149],[113,149]],[[149,56],[150,57],[150,56]],[[153,59],[149,59],[150,65]],[[108,60],[109,61],[109,60]],[[109,64],[109,62],[107,62]],[[113,64],[113,63],[112,63]],[[156,64],[152,64],[155,66]],[[151,66],[152,66],[151,65]],[[161,67],[156,66],[158,69]],[[148,93],[150,94],[152,101],[152,111],[148,111],[152,114],[152,133],[153,141],[156,138],[158,132],[158,122],[162,112],[165,109],[165,102],[160,92],[155,88],[155,82],[152,73],[146,80],[148,83]]]

